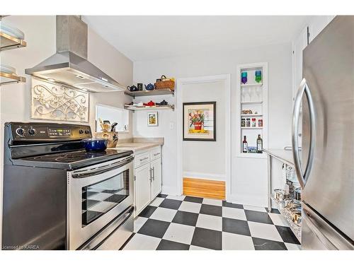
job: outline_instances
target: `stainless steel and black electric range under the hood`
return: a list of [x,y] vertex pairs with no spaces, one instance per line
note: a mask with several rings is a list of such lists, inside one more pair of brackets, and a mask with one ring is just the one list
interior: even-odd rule
[[133,226],[132,151],[86,152],[91,128],[78,124],[9,122],[4,136],[2,249],[124,244]]

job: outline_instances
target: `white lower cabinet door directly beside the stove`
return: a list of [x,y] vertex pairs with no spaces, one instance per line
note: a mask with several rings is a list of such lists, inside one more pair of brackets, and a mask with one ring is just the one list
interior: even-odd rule
[[146,164],[135,168],[135,211],[140,213],[150,198],[150,164]]

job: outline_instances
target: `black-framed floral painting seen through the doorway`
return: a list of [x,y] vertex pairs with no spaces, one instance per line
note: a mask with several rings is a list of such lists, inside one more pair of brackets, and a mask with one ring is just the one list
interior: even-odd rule
[[216,141],[217,102],[183,103],[183,141]]

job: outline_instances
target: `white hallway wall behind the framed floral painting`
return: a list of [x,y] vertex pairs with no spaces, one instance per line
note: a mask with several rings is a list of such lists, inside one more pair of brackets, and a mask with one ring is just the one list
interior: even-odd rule
[[217,141],[183,141],[184,177],[225,179],[225,84],[223,82],[184,85],[183,102],[216,101]]

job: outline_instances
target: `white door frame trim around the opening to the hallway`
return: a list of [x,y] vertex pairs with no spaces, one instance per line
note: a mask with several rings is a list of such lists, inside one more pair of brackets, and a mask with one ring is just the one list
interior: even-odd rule
[[[226,154],[226,199],[231,196],[231,75],[222,74],[217,76],[199,76],[193,78],[178,78],[176,91],[177,112],[177,192],[183,194],[183,86],[192,83],[209,83],[225,81],[225,154]],[[219,135],[220,136],[220,135]],[[218,137],[219,137],[218,136]]]

